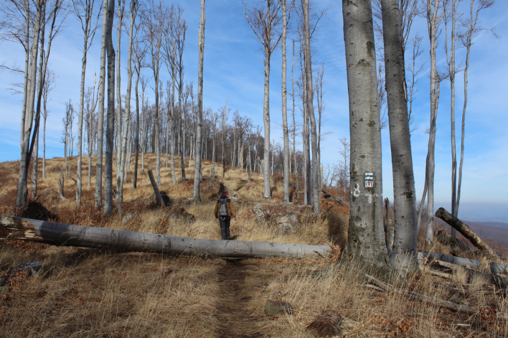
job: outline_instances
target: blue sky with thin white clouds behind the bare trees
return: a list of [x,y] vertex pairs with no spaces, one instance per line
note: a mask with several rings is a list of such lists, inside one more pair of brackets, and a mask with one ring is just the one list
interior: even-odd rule
[[[170,4],[170,2],[167,2]],[[186,49],[184,53],[185,78],[197,83],[198,68],[198,28],[200,2],[175,1],[184,9],[188,23]],[[250,5],[252,2],[249,2]],[[338,4],[337,4],[338,3]],[[349,138],[348,102],[344,62],[344,43],[342,35],[342,13],[340,2],[331,0],[316,1],[318,9],[329,8],[320,21],[319,30],[313,42],[315,54],[313,62],[324,63],[324,131],[329,132],[322,142],[322,162],[333,164],[339,161],[338,139]],[[468,7],[468,4],[462,4]],[[465,14],[467,15],[467,13]],[[492,220],[508,222],[508,108],[505,93],[508,92],[508,2],[498,0],[496,4],[480,14],[480,25],[495,29],[498,38],[488,31],[482,32],[474,40],[471,49],[468,74],[468,102],[466,113],[465,155],[462,178],[461,208],[459,217],[468,220]],[[418,92],[413,104],[415,116],[411,134],[411,147],[415,171],[418,199],[421,198],[425,173],[429,125],[429,50],[427,24],[418,18],[411,35],[418,32],[423,37],[423,53],[418,62],[424,63],[420,74]],[[88,53],[87,81],[91,85],[94,72],[99,71],[100,31]],[[293,36],[294,37],[294,36]],[[291,65],[292,43],[288,38],[288,64]],[[116,33],[114,33],[116,39]],[[122,38],[122,53],[127,37]],[[80,26],[74,16],[66,20],[66,27],[54,41],[50,57],[50,67],[58,75],[55,89],[49,103],[46,156],[62,156],[61,118],[64,103],[71,98],[79,104],[79,82],[81,74]],[[208,2],[206,7],[205,58],[203,105],[213,111],[224,107],[226,98],[228,108],[238,110],[240,115],[248,116],[255,124],[263,125],[263,55],[260,43],[248,26],[244,7],[240,1],[217,0]],[[116,47],[116,43],[115,43]],[[16,44],[0,43],[0,63],[23,65],[24,55]],[[437,49],[438,66],[446,65],[442,44]],[[458,51],[461,65],[464,64],[464,51]],[[126,53],[122,54],[121,67],[122,92],[125,91]],[[295,61],[297,63],[298,61]],[[281,134],[281,57],[280,49],[272,56],[270,77],[270,116],[271,133],[276,143],[282,143]],[[295,72],[298,72],[295,69]],[[146,72],[148,75],[148,71]],[[21,96],[8,90],[11,83],[21,82],[18,74],[7,71],[0,73],[0,161],[19,159],[19,128]],[[457,76],[456,120],[460,121],[463,105],[462,73]],[[162,80],[169,79],[164,70]],[[291,69],[288,69],[288,85],[291,84]],[[152,85],[153,86],[153,85]],[[288,88],[290,93],[291,88]],[[148,89],[153,102],[153,93]],[[290,101],[289,101],[290,102]],[[449,82],[441,84],[439,111],[437,117],[437,136],[435,152],[435,201],[436,207],[450,209],[451,196],[451,150],[450,150],[450,89]],[[297,109],[297,120],[301,120]],[[383,187],[384,195],[393,200],[391,157],[388,128],[382,131],[383,147]],[[457,145],[460,145],[460,125],[457,125]],[[297,144],[297,147],[301,144]],[[459,148],[458,148],[459,149]],[[42,156],[42,150],[41,155]],[[487,206],[496,206],[487,209]]]

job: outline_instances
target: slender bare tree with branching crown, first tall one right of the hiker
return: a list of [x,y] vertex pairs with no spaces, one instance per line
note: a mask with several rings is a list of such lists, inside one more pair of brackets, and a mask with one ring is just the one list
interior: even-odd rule
[[270,57],[280,41],[281,35],[277,28],[281,17],[279,15],[280,2],[266,0],[266,9],[256,6],[247,10],[245,3],[245,17],[250,28],[255,33],[264,48],[265,59],[265,91],[263,101],[263,124],[265,128],[265,149],[263,153],[263,197],[271,198],[270,191]]

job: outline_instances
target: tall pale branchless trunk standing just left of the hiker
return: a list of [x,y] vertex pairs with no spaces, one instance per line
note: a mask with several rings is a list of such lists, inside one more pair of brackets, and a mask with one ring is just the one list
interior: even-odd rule
[[[203,146],[203,58],[205,52],[205,0],[201,0],[201,18],[199,21],[199,65],[198,65],[198,111],[196,130],[196,160],[194,161],[194,191],[193,200],[201,202],[199,183],[201,181],[201,149]],[[182,154],[183,158],[183,154]],[[182,163],[182,171],[183,169]],[[183,175],[184,172],[182,172]]]

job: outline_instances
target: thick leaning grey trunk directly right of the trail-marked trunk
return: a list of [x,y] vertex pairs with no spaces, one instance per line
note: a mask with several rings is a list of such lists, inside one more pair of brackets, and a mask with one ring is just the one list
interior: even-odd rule
[[390,260],[396,267],[412,269],[417,265],[418,228],[399,0],[382,0],[381,9],[395,213]]

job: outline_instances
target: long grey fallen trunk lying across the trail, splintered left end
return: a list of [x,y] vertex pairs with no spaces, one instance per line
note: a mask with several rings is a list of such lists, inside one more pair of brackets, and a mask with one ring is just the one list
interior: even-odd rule
[[216,257],[328,256],[330,247],[276,242],[203,240],[162,234],[45,222],[0,214],[7,239],[122,252],[158,252]]

